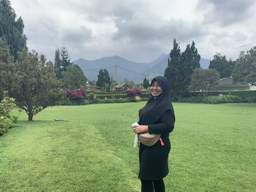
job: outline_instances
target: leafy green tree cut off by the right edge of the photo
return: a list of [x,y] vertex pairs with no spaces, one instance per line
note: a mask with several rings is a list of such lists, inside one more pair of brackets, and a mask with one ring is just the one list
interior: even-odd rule
[[246,53],[241,52],[238,60],[236,61],[236,66],[233,70],[233,81],[238,83],[246,82],[246,77],[248,80],[253,77],[253,73],[256,72],[256,46]]

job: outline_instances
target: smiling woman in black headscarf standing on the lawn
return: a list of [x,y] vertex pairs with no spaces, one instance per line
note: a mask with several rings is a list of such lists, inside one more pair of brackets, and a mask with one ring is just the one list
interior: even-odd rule
[[173,131],[175,115],[170,101],[169,85],[165,77],[154,77],[150,85],[151,97],[139,111],[136,134],[161,134],[159,141],[147,147],[140,143],[140,172],[142,192],[165,191],[163,178],[168,174],[169,134]]

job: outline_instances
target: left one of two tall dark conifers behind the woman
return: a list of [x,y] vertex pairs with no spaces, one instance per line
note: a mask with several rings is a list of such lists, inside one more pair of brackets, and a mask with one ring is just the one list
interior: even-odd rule
[[170,96],[175,98],[180,95],[179,82],[181,77],[180,72],[181,49],[176,39],[173,40],[173,49],[170,51],[168,65],[165,69],[165,77],[170,85]]

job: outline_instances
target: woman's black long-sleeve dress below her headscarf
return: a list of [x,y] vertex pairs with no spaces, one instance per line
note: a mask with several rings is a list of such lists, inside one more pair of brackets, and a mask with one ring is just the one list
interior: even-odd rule
[[167,110],[156,123],[148,125],[150,134],[161,134],[164,146],[158,141],[155,145],[147,147],[140,143],[140,172],[141,180],[159,180],[168,172],[168,154],[170,152],[169,134],[173,131],[175,116],[172,110]]

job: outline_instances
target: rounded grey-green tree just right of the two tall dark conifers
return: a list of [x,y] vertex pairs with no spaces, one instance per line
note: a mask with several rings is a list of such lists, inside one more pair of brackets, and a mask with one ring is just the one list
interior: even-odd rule
[[218,84],[219,72],[216,69],[197,68],[192,74],[191,91],[208,92]]

